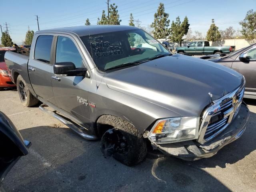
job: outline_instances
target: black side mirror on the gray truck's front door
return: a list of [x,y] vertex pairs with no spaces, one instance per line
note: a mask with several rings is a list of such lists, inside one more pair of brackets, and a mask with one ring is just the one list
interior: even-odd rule
[[85,76],[87,69],[76,68],[75,64],[72,62],[59,62],[54,64],[53,71],[54,74],[64,76]]

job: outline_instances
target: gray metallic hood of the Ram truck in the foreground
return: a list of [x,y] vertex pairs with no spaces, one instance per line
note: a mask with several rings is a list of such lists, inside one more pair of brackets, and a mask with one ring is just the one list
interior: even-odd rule
[[181,116],[200,116],[210,103],[242,84],[238,72],[200,58],[176,54],[104,76],[108,88],[152,102]]

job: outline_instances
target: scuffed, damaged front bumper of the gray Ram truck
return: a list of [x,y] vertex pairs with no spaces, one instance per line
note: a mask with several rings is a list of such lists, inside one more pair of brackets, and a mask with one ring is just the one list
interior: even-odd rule
[[244,133],[249,114],[248,106],[242,103],[236,118],[230,125],[216,136],[216,138],[206,144],[200,144],[195,140],[190,140],[170,144],[156,144],[152,142],[152,145],[156,146],[156,148],[164,154],[175,156],[183,160],[192,161],[208,158],[214,156],[222,147],[238,139]]

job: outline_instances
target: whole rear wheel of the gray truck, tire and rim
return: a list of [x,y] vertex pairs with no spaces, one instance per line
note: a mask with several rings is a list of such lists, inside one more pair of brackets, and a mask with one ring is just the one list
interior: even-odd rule
[[17,78],[17,91],[23,106],[31,107],[38,104],[38,100],[32,95],[21,75]]

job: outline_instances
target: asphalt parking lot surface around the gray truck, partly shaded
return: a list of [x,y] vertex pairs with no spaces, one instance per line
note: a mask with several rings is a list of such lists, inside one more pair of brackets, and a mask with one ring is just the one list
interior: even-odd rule
[[7,192],[256,191],[256,100],[245,102],[246,131],[212,158],[148,157],[128,167],[103,158],[99,141],[82,139],[38,106],[23,107],[17,91],[1,91],[0,110],[32,142],[3,185]]

